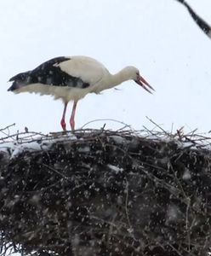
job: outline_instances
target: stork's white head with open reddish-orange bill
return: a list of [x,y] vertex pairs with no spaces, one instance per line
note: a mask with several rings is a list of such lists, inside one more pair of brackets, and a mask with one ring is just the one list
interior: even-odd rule
[[151,85],[148,84],[146,80],[140,75],[140,71],[138,68],[132,66],[126,68],[129,73],[130,79],[133,79],[135,83],[140,84],[140,86],[147,90],[149,93],[151,93],[151,90],[154,90],[153,87],[151,87]]

